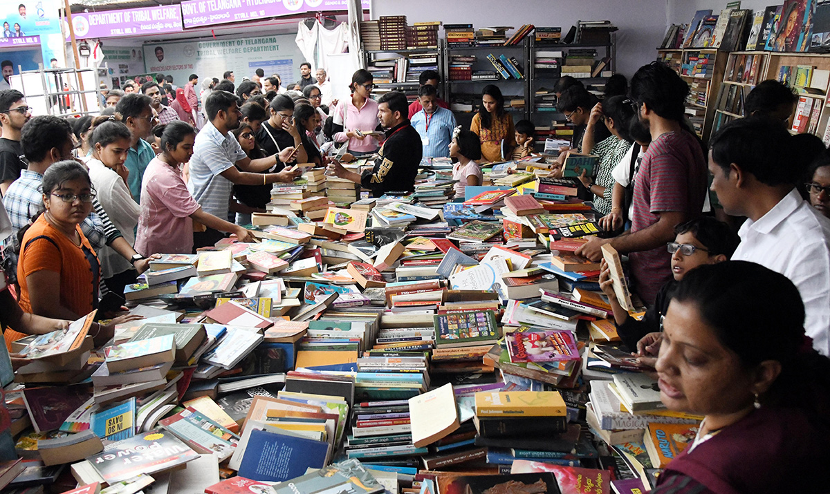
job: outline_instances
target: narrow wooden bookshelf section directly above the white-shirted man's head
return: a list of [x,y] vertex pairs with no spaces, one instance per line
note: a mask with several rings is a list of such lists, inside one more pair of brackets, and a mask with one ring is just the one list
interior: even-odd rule
[[726,61],[724,79],[715,104],[715,122],[712,133],[734,119],[745,117],[747,94],[763,79],[768,52],[735,51]]

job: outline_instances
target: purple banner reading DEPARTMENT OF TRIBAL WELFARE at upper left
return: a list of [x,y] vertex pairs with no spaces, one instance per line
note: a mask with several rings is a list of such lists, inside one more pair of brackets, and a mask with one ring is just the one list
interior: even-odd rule
[[182,9],[178,5],[128,8],[72,14],[75,37],[107,38],[182,31]]

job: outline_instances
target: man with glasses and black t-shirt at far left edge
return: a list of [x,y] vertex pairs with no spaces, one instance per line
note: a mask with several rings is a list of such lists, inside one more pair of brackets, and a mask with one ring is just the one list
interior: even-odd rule
[[20,131],[32,112],[18,90],[0,91],[0,195],[6,195],[8,186],[20,178],[26,161],[20,148]]

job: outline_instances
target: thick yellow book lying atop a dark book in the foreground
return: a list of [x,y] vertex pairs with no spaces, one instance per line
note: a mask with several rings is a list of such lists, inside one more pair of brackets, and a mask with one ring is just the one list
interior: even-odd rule
[[476,415],[559,417],[566,414],[559,391],[483,391],[476,393]]

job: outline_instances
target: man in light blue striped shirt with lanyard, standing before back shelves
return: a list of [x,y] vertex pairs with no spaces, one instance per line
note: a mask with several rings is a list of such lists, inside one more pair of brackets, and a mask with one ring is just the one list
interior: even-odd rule
[[422,85],[417,90],[422,109],[413,115],[412,125],[421,135],[422,157],[450,156],[452,129],[456,117],[446,108],[438,106],[435,86]]

